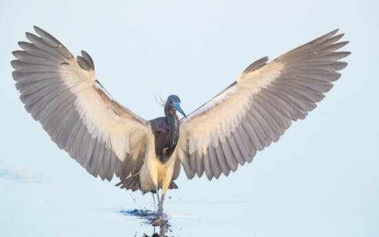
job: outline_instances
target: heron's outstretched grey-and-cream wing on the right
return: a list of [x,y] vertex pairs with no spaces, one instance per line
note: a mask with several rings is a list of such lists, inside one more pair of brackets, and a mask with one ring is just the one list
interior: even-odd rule
[[188,178],[218,178],[252,162],[257,151],[276,142],[324,98],[347,63],[336,52],[338,30],[291,50],[266,64],[250,65],[226,90],[181,121],[176,156]]

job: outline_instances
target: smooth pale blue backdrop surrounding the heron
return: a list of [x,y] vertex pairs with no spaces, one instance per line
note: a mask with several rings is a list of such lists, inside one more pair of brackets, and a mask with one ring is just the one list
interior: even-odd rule
[[[379,236],[378,1],[0,1],[0,236],[142,236],[114,210],[150,195],[93,178],[50,141],[18,98],[12,51],[32,25],[74,55],[143,118],[154,94],[192,112],[253,61],[340,28],[352,54],[305,121],[229,177],[182,173],[165,203],[172,236]],[[135,199],[135,200],[134,200]]]

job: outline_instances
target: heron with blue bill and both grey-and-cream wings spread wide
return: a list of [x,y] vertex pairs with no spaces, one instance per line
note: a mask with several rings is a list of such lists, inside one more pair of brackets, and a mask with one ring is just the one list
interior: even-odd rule
[[[12,77],[25,109],[58,147],[95,177],[163,200],[183,168],[187,178],[228,176],[278,141],[292,121],[304,119],[347,66],[349,41],[329,32],[273,61],[265,56],[221,93],[190,114],[172,94],[164,116],[147,121],[117,102],[95,76],[94,61],[75,57],[34,26],[29,42],[12,52]],[[183,115],[179,119],[177,112]],[[159,195],[161,191],[161,195]]]

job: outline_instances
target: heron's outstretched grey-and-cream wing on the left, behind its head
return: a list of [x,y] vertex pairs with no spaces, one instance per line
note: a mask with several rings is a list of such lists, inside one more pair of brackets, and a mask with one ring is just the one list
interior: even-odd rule
[[52,141],[93,176],[110,181],[135,174],[143,164],[149,126],[117,103],[94,75],[86,52],[77,57],[40,28],[14,51],[13,79],[25,109]]

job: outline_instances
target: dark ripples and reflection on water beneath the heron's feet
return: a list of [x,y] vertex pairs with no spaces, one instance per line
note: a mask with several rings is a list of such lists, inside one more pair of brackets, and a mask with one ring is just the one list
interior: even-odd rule
[[[125,215],[125,216],[132,216],[138,219],[143,220],[143,224],[150,225],[153,227],[153,233],[151,237],[171,237],[169,233],[172,232],[172,229],[170,228],[171,225],[169,223],[170,219],[167,219],[167,215],[164,215],[165,220],[161,220],[158,217],[158,212],[153,212],[150,210],[143,210],[143,209],[133,209],[133,210],[119,210],[119,214]],[[167,235],[169,234],[169,235]],[[143,234],[143,237],[150,237],[147,234]]]

